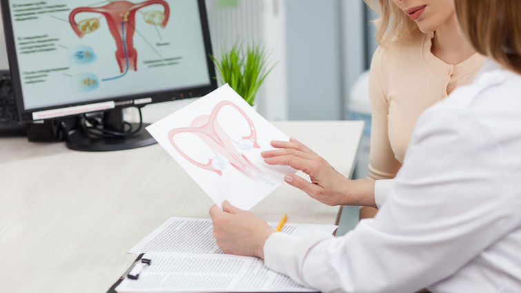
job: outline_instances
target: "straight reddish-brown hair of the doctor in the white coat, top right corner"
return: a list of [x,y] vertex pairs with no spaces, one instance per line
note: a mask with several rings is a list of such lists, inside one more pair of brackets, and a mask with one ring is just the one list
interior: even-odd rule
[[521,1],[455,0],[455,8],[475,50],[521,74]]

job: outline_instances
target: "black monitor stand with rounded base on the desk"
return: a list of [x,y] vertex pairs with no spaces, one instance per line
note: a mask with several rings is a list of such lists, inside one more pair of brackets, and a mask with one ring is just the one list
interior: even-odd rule
[[[139,123],[131,123],[132,129],[139,128]],[[106,152],[111,150],[128,150],[141,148],[157,143],[145,130],[148,124],[143,124],[139,132],[128,137],[99,136],[89,133],[80,126],[72,130],[67,137],[67,148],[87,152]],[[108,110],[104,112],[103,129],[111,132],[124,132],[123,110]]]

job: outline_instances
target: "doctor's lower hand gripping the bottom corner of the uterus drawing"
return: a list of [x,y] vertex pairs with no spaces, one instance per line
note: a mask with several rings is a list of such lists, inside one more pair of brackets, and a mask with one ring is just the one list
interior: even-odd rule
[[275,232],[266,221],[228,201],[222,203],[222,210],[212,205],[210,217],[213,236],[224,252],[264,259],[264,242]]

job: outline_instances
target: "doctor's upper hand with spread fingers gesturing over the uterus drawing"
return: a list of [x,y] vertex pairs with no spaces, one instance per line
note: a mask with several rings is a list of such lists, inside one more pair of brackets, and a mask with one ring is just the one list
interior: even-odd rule
[[309,175],[311,183],[295,174],[287,174],[284,181],[299,188],[326,205],[366,205],[375,207],[374,184],[369,179],[349,180],[337,172],[324,158],[303,143],[271,141],[273,148],[262,152],[268,165],[287,165]]

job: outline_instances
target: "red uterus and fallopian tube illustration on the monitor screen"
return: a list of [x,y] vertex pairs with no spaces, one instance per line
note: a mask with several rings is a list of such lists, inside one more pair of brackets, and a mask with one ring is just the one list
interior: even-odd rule
[[[95,30],[99,28],[99,19],[83,19],[82,21],[77,22],[75,21],[76,14],[80,12],[97,12],[103,14],[107,20],[110,33],[116,41],[116,59],[119,64],[119,70],[121,73],[126,74],[129,68],[130,70],[137,70],[137,50],[134,48],[133,41],[134,32],[136,30],[136,12],[141,8],[153,4],[162,5],[164,7],[164,12],[161,13],[154,11],[146,13],[146,22],[165,28],[166,23],[168,23],[168,18],[170,17],[170,8],[168,3],[164,0],[148,0],[141,3],[111,1],[103,7],[79,7],[70,12],[69,22],[70,26],[72,26],[72,30],[74,30],[78,37],[81,38],[85,34],[95,32]],[[124,74],[119,77],[122,77]]]

